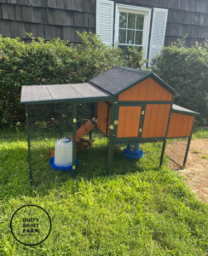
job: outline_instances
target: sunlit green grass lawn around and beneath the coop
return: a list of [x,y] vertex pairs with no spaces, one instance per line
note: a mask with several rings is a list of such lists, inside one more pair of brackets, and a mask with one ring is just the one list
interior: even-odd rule
[[[195,131],[194,138],[208,138]],[[32,142],[35,185],[29,181],[26,134],[0,134],[0,255],[205,255],[208,206],[176,172],[159,168],[161,143],[142,144],[131,164],[114,147],[113,175],[106,176],[107,138],[78,153],[77,177],[51,172],[55,138]],[[36,247],[14,240],[13,213],[26,204],[43,207],[52,220],[49,238]]]

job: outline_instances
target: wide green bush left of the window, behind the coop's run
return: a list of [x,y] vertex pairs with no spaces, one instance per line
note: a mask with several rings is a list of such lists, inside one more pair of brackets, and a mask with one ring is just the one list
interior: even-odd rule
[[78,35],[83,44],[76,47],[60,38],[25,44],[20,38],[0,36],[0,126],[25,121],[22,85],[83,83],[124,65],[122,49],[107,47],[91,32]]

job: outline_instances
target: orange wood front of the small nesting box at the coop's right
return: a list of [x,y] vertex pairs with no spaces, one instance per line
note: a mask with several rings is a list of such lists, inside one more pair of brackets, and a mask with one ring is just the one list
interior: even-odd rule
[[186,137],[191,135],[194,116],[172,113],[168,130],[168,137]]

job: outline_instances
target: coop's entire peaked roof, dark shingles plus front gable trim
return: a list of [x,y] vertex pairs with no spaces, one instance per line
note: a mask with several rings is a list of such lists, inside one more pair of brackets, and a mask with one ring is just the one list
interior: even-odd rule
[[112,95],[116,95],[124,90],[128,90],[130,87],[147,78],[152,78],[166,90],[170,91],[171,94],[180,96],[176,90],[174,90],[169,84],[166,84],[162,79],[159,79],[159,77],[153,72],[130,67],[113,67],[97,76],[95,79],[91,79],[90,83],[95,84],[97,87]]

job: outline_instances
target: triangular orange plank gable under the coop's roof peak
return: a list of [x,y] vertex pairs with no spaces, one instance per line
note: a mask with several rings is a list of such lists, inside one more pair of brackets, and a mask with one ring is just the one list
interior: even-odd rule
[[171,101],[172,94],[153,79],[146,79],[122,92],[118,101]]

